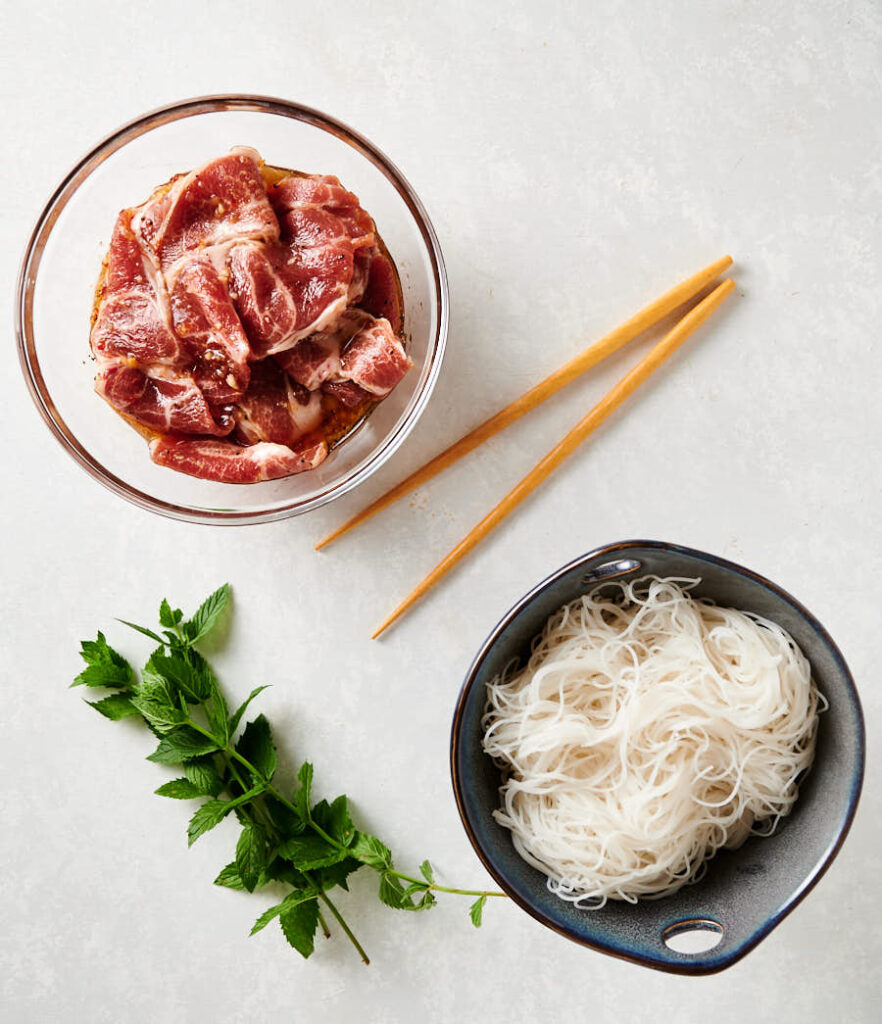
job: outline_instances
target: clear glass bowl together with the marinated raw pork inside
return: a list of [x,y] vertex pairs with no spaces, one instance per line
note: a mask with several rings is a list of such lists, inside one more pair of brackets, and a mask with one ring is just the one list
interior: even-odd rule
[[447,286],[419,201],[370,142],[293,103],[208,97],[71,172],[18,312],[32,394],[93,476],[243,523],[316,508],[391,455],[438,373]]

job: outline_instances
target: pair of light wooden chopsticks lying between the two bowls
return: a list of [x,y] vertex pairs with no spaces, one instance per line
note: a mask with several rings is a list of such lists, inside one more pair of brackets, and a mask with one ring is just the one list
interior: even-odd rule
[[[666,292],[655,302],[644,306],[638,313],[630,319],[617,327],[610,334],[605,335],[598,342],[580,352],[575,358],[555,370],[545,380],[536,387],[531,388],[519,398],[516,398],[505,409],[495,416],[475,427],[474,430],[461,437],[451,444],[434,459],[426,463],[420,469],[411,473],[401,483],[378,498],[375,502],[352,516],[338,529],[329,534],[324,540],[316,545],[316,549],[326,547],[332,541],[347,534],[360,523],[365,522],[378,512],[396,502],[404,495],[410,494],[418,486],[430,480],[442,470],[461,459],[464,455],[476,449],[494,434],[504,430],[509,424],[520,419],[521,416],[535,409],[546,398],[555,394],[562,387],[570,384],[577,377],[587,370],[596,366],[601,359],[611,355],[624,344],[642,334],[643,331],[657,324],[662,317],[672,312],[678,306],[692,299],[707,285],[715,281],[723,270],[731,266],[731,257],[723,256],[716,262],[706,266],[703,270],[692,274],[685,281],[680,282],[669,292]],[[692,334],[714,312],[723,300],[734,290],[734,282],[726,279],[721,282],[709,295],[695,305],[675,327],[673,327],[658,344],[656,344],[646,355],[626,374],[622,380],[600,399],[599,402],[554,447],[523,477],[523,479],[510,490],[505,498],[489,512],[484,519],[463,538],[462,541],[429,572],[429,574],[417,586],[394,611],[382,623],[373,634],[372,638],[378,637],[396,618],[400,618],[416,601],[418,601],[428,590],[430,590],[440,579],[446,575],[465,555],[476,547],[480,541],[500,522],[512,512],[540,483],[543,482],[563,460],[572,455],[576,449],[612,413],[614,413],[625,401],[629,395],[654,374],[659,367],[679,348],[680,345]]]

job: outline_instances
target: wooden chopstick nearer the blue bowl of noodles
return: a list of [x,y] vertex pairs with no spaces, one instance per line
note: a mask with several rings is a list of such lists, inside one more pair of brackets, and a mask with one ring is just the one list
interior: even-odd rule
[[565,437],[538,463],[505,498],[429,572],[395,610],[372,635],[376,639],[396,618],[400,618],[419,598],[446,575],[465,555],[476,547],[487,535],[539,486],[563,460],[614,413],[629,395],[659,369],[659,367],[711,315],[734,289],[734,282],[723,281],[713,292],[694,306],[683,318],[652,348],[646,355],[566,434]]

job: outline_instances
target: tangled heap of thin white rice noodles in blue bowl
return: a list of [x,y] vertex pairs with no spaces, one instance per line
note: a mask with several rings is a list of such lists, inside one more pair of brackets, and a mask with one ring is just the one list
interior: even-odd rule
[[675,892],[720,847],[770,835],[826,701],[781,627],[697,600],[698,580],[607,584],[488,686],[496,819],[580,906]]

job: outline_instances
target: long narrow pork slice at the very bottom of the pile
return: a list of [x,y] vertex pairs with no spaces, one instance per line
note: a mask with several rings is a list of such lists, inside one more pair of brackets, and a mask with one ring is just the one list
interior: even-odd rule
[[225,440],[158,437],[151,441],[150,454],[158,466],[203,480],[259,483],[314,469],[328,457],[328,445],[325,441],[309,441],[290,449],[260,441],[241,447]]

